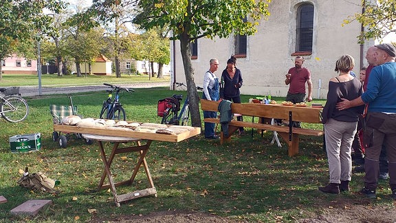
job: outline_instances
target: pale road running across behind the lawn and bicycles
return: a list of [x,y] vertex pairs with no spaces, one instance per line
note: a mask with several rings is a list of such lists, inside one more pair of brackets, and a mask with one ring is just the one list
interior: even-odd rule
[[[144,83],[130,83],[130,84],[115,84],[121,87],[129,88],[148,88],[148,87],[166,87],[169,86],[169,81],[166,82],[144,82]],[[41,87],[41,96],[51,94],[70,94],[76,92],[98,92],[109,87],[104,85],[89,85],[89,86],[74,86],[74,87]],[[21,87],[19,89],[21,96],[40,96],[39,87]]]

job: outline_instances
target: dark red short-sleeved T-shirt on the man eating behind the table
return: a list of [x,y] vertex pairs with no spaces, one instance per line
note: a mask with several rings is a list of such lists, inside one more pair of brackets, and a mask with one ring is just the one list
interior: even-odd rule
[[305,67],[299,69],[292,67],[289,69],[289,74],[292,74],[292,76],[290,76],[289,93],[305,94],[305,83],[307,80],[311,79],[311,72],[309,72],[309,70]]

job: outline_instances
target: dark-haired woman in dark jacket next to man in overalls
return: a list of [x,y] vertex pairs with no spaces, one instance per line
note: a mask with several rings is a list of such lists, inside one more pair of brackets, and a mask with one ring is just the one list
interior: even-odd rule
[[[227,67],[221,74],[221,88],[220,97],[225,100],[231,100],[233,103],[241,103],[241,92],[239,88],[242,87],[243,79],[241,70],[236,68],[236,58],[231,56],[227,61]],[[243,120],[242,116],[236,117],[237,120]],[[243,134],[243,127],[239,128],[239,133]]]

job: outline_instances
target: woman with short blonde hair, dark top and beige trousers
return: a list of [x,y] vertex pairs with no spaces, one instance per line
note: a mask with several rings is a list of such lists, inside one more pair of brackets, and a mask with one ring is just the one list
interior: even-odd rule
[[364,105],[338,110],[336,104],[342,101],[341,98],[352,100],[363,93],[359,79],[350,74],[354,65],[355,61],[352,56],[341,56],[336,62],[335,69],[340,74],[329,81],[329,92],[322,112],[322,123],[325,124],[330,183],[326,187],[319,187],[319,190],[325,193],[349,191],[352,175],[351,146],[359,115],[363,113]]

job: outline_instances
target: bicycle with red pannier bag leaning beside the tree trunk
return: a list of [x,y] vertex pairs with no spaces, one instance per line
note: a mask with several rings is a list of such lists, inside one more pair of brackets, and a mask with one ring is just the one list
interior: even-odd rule
[[[184,83],[176,83],[176,87],[184,86]],[[202,87],[197,87],[202,91]],[[182,94],[173,94],[169,98],[158,100],[157,115],[162,117],[161,124],[166,125],[188,125],[190,121],[190,102],[188,95],[184,100],[184,105],[180,110],[180,102],[183,99]],[[180,111],[180,113],[179,113]]]

